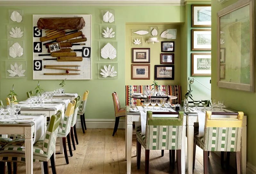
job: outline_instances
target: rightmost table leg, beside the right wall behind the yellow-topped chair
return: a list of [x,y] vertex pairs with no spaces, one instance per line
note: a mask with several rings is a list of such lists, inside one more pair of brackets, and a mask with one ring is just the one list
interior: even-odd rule
[[247,134],[247,130],[246,130],[246,126],[243,126],[242,129],[242,147],[241,147],[241,167],[242,167],[242,174],[246,174],[246,134]]

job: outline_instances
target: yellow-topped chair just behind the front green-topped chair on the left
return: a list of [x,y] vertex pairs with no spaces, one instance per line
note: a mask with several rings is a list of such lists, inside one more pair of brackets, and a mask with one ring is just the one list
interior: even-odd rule
[[72,149],[71,149],[71,142],[70,142],[70,127],[71,127],[71,121],[74,113],[75,104],[76,104],[76,100],[73,100],[72,103],[68,104],[68,107],[64,114],[64,118],[60,123],[59,131],[57,135],[57,137],[62,138],[63,150],[64,150],[65,160],[67,164],[69,164],[69,161],[68,161],[68,154],[67,154],[66,139],[68,142],[68,149],[69,149],[70,156],[73,156]]

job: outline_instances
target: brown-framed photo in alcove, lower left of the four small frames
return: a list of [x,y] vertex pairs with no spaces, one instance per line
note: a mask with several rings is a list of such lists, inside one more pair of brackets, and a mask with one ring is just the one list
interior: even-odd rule
[[132,79],[150,79],[150,64],[132,64]]

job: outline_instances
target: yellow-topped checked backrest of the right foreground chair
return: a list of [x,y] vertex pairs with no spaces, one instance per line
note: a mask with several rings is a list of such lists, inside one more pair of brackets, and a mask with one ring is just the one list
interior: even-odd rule
[[227,114],[237,115],[237,118],[212,118],[211,115],[221,115],[221,113],[206,111],[203,139],[205,151],[240,151],[243,112],[225,113]]

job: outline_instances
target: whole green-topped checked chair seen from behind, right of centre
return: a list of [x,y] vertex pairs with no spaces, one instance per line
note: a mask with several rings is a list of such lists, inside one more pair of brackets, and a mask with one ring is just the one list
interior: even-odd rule
[[[170,115],[170,117],[152,117],[152,115]],[[171,115],[178,115],[172,117]],[[183,112],[152,112],[147,111],[146,134],[141,134],[141,126],[136,127],[137,137],[137,168],[140,169],[141,145],[145,148],[145,173],[149,173],[149,150],[177,151],[178,174],[181,174],[181,148]],[[171,161],[170,161],[171,166]]]

